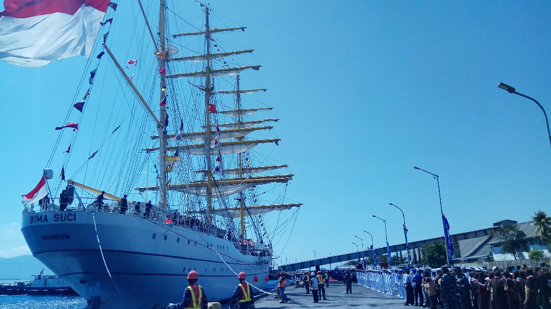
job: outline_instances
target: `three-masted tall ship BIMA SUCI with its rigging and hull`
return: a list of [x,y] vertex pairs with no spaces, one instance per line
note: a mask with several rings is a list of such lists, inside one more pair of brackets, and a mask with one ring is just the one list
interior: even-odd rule
[[[39,67],[88,57],[42,179],[23,195],[21,231],[33,256],[91,308],[179,302],[192,270],[209,301],[229,299],[239,272],[264,288],[280,253],[273,242],[285,245],[302,204],[286,196],[294,175],[272,157],[279,119],[258,100],[266,89],[250,86],[261,65],[241,64],[253,50],[233,48],[245,27],[226,26],[218,12],[224,27],[212,27],[213,11],[199,1],[117,10],[68,0],[78,4],[72,11],[42,15],[26,10],[52,1],[6,2],[15,4],[0,25],[6,16],[66,18],[52,45],[74,23],[85,31],[71,32],[80,41],[68,38],[54,56],[14,48],[9,57],[0,51],[2,60]],[[127,43],[116,32],[125,26]]]

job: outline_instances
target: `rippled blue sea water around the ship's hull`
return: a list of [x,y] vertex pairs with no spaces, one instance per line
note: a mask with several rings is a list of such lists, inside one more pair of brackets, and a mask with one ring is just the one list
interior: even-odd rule
[[[276,286],[277,280],[270,280],[266,290],[275,289]],[[0,309],[83,309],[86,305],[87,301],[80,296],[0,295]]]

